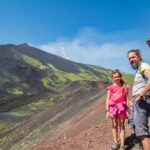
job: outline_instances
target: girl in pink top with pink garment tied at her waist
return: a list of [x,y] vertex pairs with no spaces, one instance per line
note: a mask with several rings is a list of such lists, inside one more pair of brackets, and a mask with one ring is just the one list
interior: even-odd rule
[[[128,89],[124,84],[121,72],[116,69],[112,71],[113,84],[107,87],[106,117],[112,120],[112,133],[114,144],[111,150],[125,150],[125,119],[127,118]],[[118,128],[120,128],[120,144]],[[119,148],[120,147],[120,148]]]

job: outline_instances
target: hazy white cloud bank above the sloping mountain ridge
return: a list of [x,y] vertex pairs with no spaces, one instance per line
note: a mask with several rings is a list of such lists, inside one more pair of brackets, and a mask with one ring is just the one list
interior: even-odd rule
[[[135,31],[104,34],[97,29],[84,28],[72,39],[59,37],[55,42],[38,47],[72,61],[127,71],[127,51],[133,48],[148,49],[134,33]],[[150,53],[148,51],[146,54]]]

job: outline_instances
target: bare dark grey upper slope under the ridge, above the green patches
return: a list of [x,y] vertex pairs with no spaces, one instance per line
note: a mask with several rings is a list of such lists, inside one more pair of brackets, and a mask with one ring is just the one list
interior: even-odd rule
[[[6,46],[7,47],[7,46]],[[38,59],[44,65],[48,63],[53,64],[56,68],[65,72],[78,73],[79,70],[75,67],[75,63],[59,56],[44,52],[38,48],[31,47],[27,44],[21,44],[18,46],[11,45],[9,50],[13,53],[22,53],[33,58]]]

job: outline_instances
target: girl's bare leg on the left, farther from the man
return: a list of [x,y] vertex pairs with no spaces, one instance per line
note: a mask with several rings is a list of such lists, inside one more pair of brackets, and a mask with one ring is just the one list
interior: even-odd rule
[[114,143],[118,144],[118,119],[112,118],[112,134],[114,138]]

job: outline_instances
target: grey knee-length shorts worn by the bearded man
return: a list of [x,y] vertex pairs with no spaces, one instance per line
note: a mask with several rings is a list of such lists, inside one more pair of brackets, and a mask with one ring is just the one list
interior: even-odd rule
[[149,135],[148,116],[150,114],[150,99],[135,103],[131,110],[129,124],[135,128],[136,135]]

